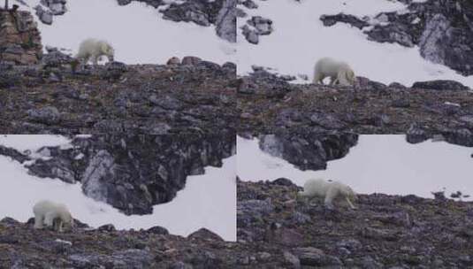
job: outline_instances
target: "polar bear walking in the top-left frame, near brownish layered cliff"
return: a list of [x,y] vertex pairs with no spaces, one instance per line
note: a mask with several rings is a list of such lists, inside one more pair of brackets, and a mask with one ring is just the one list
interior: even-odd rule
[[103,40],[97,40],[94,38],[88,38],[83,42],[80,42],[79,52],[75,56],[76,59],[87,64],[88,60],[91,59],[94,65],[97,65],[99,58],[106,56],[109,62],[113,61],[115,50],[109,42]]

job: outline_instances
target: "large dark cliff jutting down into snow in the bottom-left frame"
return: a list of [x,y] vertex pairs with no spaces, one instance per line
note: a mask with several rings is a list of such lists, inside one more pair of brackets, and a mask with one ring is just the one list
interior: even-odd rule
[[[149,214],[185,187],[188,175],[221,166],[235,154],[235,136],[226,135],[92,135],[73,137],[70,147],[43,147],[19,152],[0,145],[0,155],[24,163],[29,173],[79,181],[86,196],[126,214]],[[48,179],[44,179],[47,181]]]

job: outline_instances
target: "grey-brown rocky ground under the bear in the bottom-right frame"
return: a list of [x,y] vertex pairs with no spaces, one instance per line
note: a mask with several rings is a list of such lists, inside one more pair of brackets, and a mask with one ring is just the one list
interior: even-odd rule
[[469,268],[473,204],[360,195],[358,209],[294,201],[291,181],[238,182],[248,268]]

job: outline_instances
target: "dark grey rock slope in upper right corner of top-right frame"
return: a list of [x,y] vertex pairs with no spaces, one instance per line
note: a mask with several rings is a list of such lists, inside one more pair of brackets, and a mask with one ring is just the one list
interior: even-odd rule
[[449,66],[463,75],[473,74],[473,3],[471,1],[428,0],[408,4],[407,12],[381,12],[372,18],[350,14],[324,15],[329,27],[337,22],[362,29],[375,42],[418,46],[423,58]]

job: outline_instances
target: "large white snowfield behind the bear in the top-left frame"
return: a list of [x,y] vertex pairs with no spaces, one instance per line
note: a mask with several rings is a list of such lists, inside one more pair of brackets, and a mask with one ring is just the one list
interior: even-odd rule
[[[34,13],[38,3],[20,9]],[[34,15],[44,46],[70,49],[75,55],[81,41],[95,37],[111,42],[115,60],[126,64],[164,64],[173,56],[197,56],[218,64],[234,58],[234,44],[219,38],[215,27],[165,20],[144,3],[119,6],[117,0],[69,0],[66,7],[68,12],[54,16],[52,26]]]

